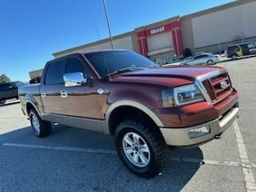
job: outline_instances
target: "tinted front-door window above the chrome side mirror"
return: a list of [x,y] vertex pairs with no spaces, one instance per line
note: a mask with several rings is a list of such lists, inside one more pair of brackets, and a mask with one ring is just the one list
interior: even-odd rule
[[69,58],[67,65],[66,65],[66,72],[65,74],[71,74],[71,73],[77,73],[81,72],[84,77],[89,78],[90,75],[90,70],[88,69],[87,66],[85,66],[82,61],[78,58]]

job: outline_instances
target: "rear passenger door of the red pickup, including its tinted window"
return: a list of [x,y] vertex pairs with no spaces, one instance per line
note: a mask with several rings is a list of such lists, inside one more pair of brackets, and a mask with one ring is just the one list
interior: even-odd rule
[[64,114],[61,92],[64,90],[63,74],[66,59],[59,59],[46,65],[46,74],[41,82],[41,98],[45,114]]

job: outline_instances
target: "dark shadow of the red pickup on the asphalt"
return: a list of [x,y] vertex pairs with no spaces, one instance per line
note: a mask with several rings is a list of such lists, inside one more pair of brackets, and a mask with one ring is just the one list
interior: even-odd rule
[[[203,159],[199,147],[174,150],[166,171],[155,178],[145,179],[131,174],[116,154],[65,150],[114,151],[113,137],[93,131],[54,126],[49,137],[37,138],[30,127],[25,127],[0,134],[0,142],[0,170],[2,175],[9,175],[3,185],[7,188],[11,186],[14,191],[21,190],[18,186],[22,186],[24,191],[31,190],[31,186],[35,191],[180,191],[201,166],[199,162],[180,159]],[[23,146],[6,146],[6,143]],[[62,149],[40,146],[59,146]]]

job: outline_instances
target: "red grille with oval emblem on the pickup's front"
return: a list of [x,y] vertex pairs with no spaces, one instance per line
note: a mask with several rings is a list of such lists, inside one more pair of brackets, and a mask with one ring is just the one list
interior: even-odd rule
[[230,77],[227,73],[219,74],[213,78],[203,80],[203,85],[212,102],[220,102],[232,92]]

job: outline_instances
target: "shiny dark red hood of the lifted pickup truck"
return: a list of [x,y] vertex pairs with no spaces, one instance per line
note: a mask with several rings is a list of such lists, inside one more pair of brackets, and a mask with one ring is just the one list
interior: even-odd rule
[[112,81],[174,87],[193,83],[197,78],[218,74],[223,70],[224,68],[218,66],[162,66],[114,75]]

